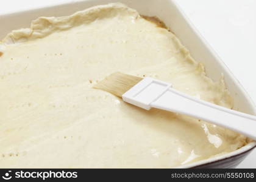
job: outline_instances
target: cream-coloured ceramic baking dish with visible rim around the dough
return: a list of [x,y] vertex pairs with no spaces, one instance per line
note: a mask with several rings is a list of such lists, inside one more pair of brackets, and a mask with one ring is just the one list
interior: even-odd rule
[[[7,33],[21,27],[29,27],[30,22],[38,16],[64,16],[70,15],[76,11],[83,10],[93,5],[107,4],[108,0],[88,0],[72,2],[68,4],[55,5],[54,7],[43,7],[26,12],[18,12],[0,17],[0,37],[3,38]],[[229,69],[218,58],[216,53],[209,47],[207,42],[199,35],[188,18],[182,13],[175,1],[171,0],[119,0],[129,7],[135,8],[141,15],[157,16],[174,32],[187,47],[191,55],[199,62],[205,65],[207,75],[213,80],[219,80],[223,74],[226,85],[234,98],[235,110],[255,114],[256,110],[247,93],[240,86],[238,81],[230,73]],[[230,121],[232,124],[232,121]],[[219,155],[218,157],[207,160],[197,161],[180,167],[235,167],[244,157],[256,146],[251,142],[241,149]]]

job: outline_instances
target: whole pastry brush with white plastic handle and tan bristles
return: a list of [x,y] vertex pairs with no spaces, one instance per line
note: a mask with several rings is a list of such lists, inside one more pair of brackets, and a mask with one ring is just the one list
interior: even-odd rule
[[182,113],[226,127],[256,140],[256,116],[227,109],[179,92],[170,83],[116,72],[100,81],[95,89],[112,93],[126,103],[149,110],[152,107]]

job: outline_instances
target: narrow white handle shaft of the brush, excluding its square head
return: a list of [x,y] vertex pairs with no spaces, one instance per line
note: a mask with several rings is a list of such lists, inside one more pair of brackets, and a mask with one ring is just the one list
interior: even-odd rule
[[242,133],[256,140],[256,117],[177,92],[166,90],[151,107],[182,113]]

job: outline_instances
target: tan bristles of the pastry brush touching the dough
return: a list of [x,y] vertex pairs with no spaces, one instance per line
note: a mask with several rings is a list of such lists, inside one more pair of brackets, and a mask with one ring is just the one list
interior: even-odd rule
[[141,79],[143,78],[116,72],[107,76],[107,78],[100,81],[93,88],[104,90],[121,98],[124,93],[140,82]]

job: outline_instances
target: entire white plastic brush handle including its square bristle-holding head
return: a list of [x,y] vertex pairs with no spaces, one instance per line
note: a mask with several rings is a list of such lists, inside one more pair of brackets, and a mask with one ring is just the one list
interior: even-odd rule
[[193,116],[256,140],[256,116],[188,96],[172,89],[170,84],[157,79],[144,78],[140,83],[124,93],[123,99],[147,110],[155,107]]

